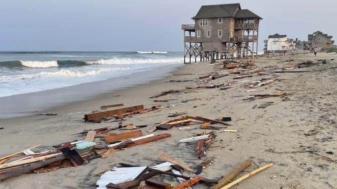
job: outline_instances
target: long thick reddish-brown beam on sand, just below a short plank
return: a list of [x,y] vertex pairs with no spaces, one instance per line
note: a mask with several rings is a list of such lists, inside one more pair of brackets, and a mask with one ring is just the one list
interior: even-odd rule
[[132,111],[137,111],[140,109],[144,109],[144,105],[136,105],[136,106],[131,106],[131,107],[124,107],[124,108],[119,108],[119,109],[114,109],[114,110],[109,110],[109,111],[101,111],[101,112],[96,112],[96,113],[90,113],[84,115],[84,120],[85,121],[92,121],[95,119],[102,119],[105,117],[110,117],[112,115],[120,115],[126,112],[132,112]]

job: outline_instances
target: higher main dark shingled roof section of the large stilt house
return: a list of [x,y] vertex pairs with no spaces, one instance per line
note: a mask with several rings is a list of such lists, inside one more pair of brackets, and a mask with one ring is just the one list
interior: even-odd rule
[[234,17],[237,9],[241,9],[240,3],[203,5],[192,19]]

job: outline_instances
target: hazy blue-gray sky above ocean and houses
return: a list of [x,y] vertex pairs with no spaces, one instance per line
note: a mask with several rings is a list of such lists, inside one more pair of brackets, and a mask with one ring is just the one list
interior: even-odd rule
[[0,51],[184,51],[181,24],[202,5],[240,3],[275,33],[337,40],[337,0],[0,0]]

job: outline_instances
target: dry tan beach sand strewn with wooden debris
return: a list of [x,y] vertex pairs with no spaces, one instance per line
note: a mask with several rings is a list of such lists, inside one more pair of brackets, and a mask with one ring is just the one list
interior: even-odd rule
[[[95,188],[99,177],[95,174],[117,167],[118,163],[138,166],[155,166],[165,162],[159,154],[166,154],[179,162],[193,167],[208,157],[214,157],[212,165],[204,169],[200,176],[220,180],[246,159],[253,163],[238,177],[259,167],[272,163],[273,166],[236,184],[232,189],[335,189],[337,186],[337,61],[330,58],[336,54],[293,51],[285,56],[261,56],[255,59],[256,66],[245,73],[254,72],[253,77],[233,80],[226,76],[211,80],[206,85],[232,84],[227,90],[218,88],[198,89],[191,93],[171,93],[157,98],[149,98],[163,91],[196,87],[199,77],[210,73],[225,73],[222,62],[210,64],[201,62],[185,64],[172,75],[147,84],[136,85],[112,93],[97,96],[95,99],[77,101],[53,107],[37,115],[0,119],[0,157],[42,144],[35,152],[54,149],[52,146],[68,141],[83,140],[84,135],[76,134],[85,129],[117,127],[118,122],[84,122],[85,114],[99,110],[101,105],[123,103],[128,107],[143,104],[145,108],[162,105],[164,108],[126,117],[123,125],[148,125],[142,128],[143,135],[157,123],[179,117],[167,117],[170,112],[189,111],[188,115],[209,119],[231,117],[231,126],[226,129],[238,132],[215,130],[217,137],[207,155],[198,159],[197,142],[179,143],[180,139],[203,132],[200,124],[189,128],[156,130],[155,135],[170,133],[172,136],[126,150],[113,152],[108,158],[91,160],[86,165],[61,168],[40,174],[24,174],[0,182],[2,189],[75,189]],[[306,68],[283,70],[297,67],[297,64],[312,61],[317,64]],[[238,71],[240,68],[235,69]],[[257,75],[263,69],[268,75]],[[297,73],[272,73],[272,71],[311,71]],[[241,72],[243,72],[241,70]],[[185,75],[192,74],[192,75]],[[241,88],[250,82],[276,78],[277,81],[257,87]],[[192,80],[190,82],[166,82],[169,80]],[[205,79],[202,79],[205,80]],[[255,91],[246,92],[249,90]],[[89,90],[89,89],[88,89]],[[272,96],[256,100],[243,100],[250,95],[265,95],[286,92],[286,96]],[[199,99],[195,99],[199,98]],[[154,99],[172,99],[168,102],[154,102]],[[195,100],[191,100],[195,99]],[[186,101],[187,100],[187,101]],[[186,102],[183,102],[186,101]],[[273,102],[265,108],[258,108],[265,102]],[[255,106],[256,105],[256,106]],[[253,108],[255,106],[255,108]],[[119,107],[116,107],[119,108]],[[113,108],[111,108],[113,109]],[[57,115],[38,115],[39,113]],[[217,124],[219,125],[219,124]],[[206,130],[210,132],[212,130]],[[113,133],[123,133],[115,130]],[[95,142],[105,144],[100,138]],[[185,176],[194,176],[184,171]],[[238,178],[237,177],[237,178]],[[160,176],[173,185],[175,177]],[[206,189],[211,185],[198,184],[194,189]]]

